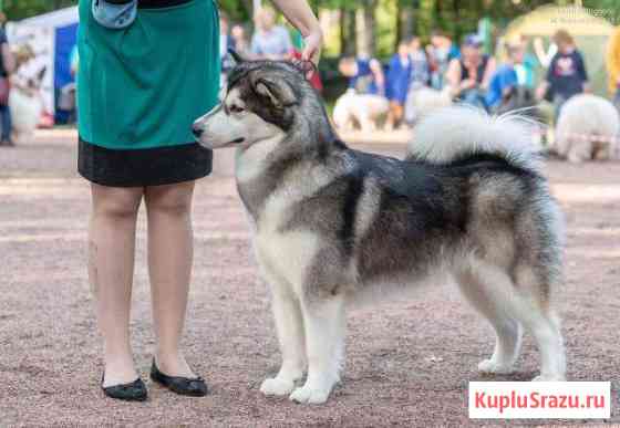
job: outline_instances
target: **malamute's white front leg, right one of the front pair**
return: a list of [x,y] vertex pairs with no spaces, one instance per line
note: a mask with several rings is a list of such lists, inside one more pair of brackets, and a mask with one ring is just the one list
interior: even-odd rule
[[308,378],[290,399],[298,403],[322,404],[340,380],[344,356],[344,296],[302,302],[308,354]]

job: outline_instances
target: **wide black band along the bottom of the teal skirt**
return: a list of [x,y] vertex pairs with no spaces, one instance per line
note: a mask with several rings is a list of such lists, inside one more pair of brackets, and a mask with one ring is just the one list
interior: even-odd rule
[[135,150],[111,149],[80,138],[78,170],[108,187],[173,185],[208,176],[213,152],[197,143]]

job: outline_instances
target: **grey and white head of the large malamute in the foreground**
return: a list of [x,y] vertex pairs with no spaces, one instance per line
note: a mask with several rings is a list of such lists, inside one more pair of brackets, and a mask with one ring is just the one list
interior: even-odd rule
[[220,103],[194,123],[194,135],[205,147],[249,147],[283,137],[300,117],[303,104],[318,100],[296,64],[238,58],[237,62]]

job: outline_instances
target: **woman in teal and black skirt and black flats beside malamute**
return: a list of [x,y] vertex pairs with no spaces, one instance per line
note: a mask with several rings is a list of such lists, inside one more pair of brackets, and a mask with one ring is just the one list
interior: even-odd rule
[[[322,34],[307,2],[273,2],[304,35],[304,58],[317,61]],[[194,182],[211,169],[211,153],[194,142],[192,123],[217,103],[218,11],[214,0],[137,0],[135,20],[122,28],[96,14],[132,3],[80,0],[78,166],[91,181],[89,273],[104,340],[102,387],[113,398],[147,395],[128,333],[144,199],[156,333],[151,377],[177,394],[203,396],[206,384],[189,368],[179,342],[192,272]]]

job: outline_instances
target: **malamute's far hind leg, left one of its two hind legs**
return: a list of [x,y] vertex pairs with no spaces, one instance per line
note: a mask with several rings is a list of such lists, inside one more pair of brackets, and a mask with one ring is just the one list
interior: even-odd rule
[[[485,272],[475,265],[465,267],[457,274],[457,283],[464,297],[485,316],[495,330],[495,351],[488,359],[478,364],[483,373],[510,373],[519,356],[523,328],[510,315],[502,297],[493,292]],[[498,299],[499,297],[499,299]]]

